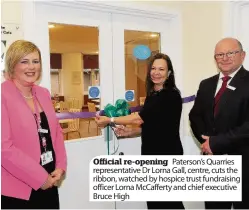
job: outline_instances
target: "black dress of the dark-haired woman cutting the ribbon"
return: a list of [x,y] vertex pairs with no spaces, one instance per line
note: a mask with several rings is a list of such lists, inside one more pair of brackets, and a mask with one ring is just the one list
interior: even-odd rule
[[[179,128],[182,99],[175,89],[162,89],[146,97],[139,115],[142,155],[183,155]],[[184,209],[182,202],[149,201],[148,209]]]

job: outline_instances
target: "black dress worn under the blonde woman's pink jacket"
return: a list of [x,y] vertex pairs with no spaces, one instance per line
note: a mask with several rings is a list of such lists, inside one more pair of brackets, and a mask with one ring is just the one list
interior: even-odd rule
[[[40,117],[42,128],[48,130],[48,133],[42,134],[47,140],[47,151],[52,151],[53,155],[53,161],[43,166],[43,168],[50,174],[55,170],[55,153],[52,145],[47,117],[44,112],[40,113]],[[40,134],[39,138],[42,154],[44,152],[44,148],[42,146]],[[28,201],[4,195],[1,196],[1,201],[2,209],[59,209],[59,194],[57,187],[52,187],[47,190],[38,189],[37,191],[32,189],[30,199]]]

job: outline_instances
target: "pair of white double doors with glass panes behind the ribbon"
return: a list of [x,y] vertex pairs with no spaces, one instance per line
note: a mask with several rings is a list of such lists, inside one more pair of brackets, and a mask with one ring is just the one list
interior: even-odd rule
[[[125,93],[128,93],[131,107],[142,105],[146,53],[170,55],[175,47],[166,19],[121,15],[120,11],[114,14],[42,2],[35,6],[35,30],[30,31],[30,40],[42,53],[40,85],[50,90],[59,114],[66,110],[64,114],[67,115],[68,107],[71,107],[70,112],[80,109],[84,115],[77,121],[70,117],[60,118],[65,130],[72,122],[78,126],[73,130],[76,132],[65,136],[68,173],[59,188],[62,208],[146,208],[144,202],[89,201],[90,161],[108,153],[140,155],[141,139],[117,140],[112,132],[98,130],[92,119],[94,116],[84,113],[94,113],[97,108],[102,110],[108,103],[115,104],[117,99],[125,98]],[[141,52],[145,48],[146,53]],[[88,103],[95,106],[88,106]],[[107,133],[110,134],[108,143]]]

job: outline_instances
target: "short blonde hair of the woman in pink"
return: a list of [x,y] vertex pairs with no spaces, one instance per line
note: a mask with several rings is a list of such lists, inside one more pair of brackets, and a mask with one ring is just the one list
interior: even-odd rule
[[[41,59],[41,51],[40,49],[32,42],[26,41],[26,40],[17,40],[13,42],[5,55],[5,72],[8,74],[10,78],[13,78],[14,75],[14,68],[16,64],[26,55],[38,52],[39,59],[40,59],[40,65],[41,65],[41,71],[38,79],[41,76],[42,72],[42,59]],[[37,79],[37,80],[38,80]]]

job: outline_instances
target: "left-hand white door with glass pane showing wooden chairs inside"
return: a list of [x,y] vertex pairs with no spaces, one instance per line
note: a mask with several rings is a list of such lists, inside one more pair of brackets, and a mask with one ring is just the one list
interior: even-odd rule
[[[68,157],[61,207],[113,209],[114,202],[89,201],[89,163],[107,154],[94,117],[113,102],[111,15],[37,3],[35,23],[33,41],[43,59],[40,85],[51,92]],[[70,117],[72,112],[78,118]]]

